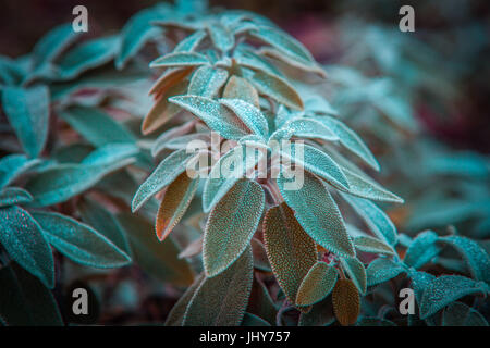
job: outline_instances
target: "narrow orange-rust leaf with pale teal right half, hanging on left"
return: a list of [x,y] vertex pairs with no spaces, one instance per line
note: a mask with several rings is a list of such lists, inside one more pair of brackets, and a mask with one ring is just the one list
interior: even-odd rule
[[192,179],[187,173],[180,174],[166,190],[157,213],[157,237],[164,240],[181,221],[194,198],[199,178]]

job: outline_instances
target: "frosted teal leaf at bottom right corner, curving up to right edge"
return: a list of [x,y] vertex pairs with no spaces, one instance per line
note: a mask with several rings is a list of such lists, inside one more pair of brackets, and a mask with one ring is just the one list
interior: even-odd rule
[[461,275],[441,275],[427,286],[419,304],[420,319],[426,319],[449,303],[468,295],[486,295],[488,286]]

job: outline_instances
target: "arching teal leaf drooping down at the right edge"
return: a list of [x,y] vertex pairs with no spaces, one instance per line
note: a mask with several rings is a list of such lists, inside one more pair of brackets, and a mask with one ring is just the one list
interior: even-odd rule
[[476,241],[462,236],[441,237],[439,240],[451,245],[463,256],[476,281],[490,284],[490,257]]

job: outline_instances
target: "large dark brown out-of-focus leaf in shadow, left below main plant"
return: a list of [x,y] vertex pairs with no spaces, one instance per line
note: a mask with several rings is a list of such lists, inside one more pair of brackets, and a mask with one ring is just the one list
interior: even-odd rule
[[179,259],[180,249],[171,237],[158,243],[151,223],[131,213],[118,215],[118,221],[130,236],[134,259],[143,270],[177,286],[193,283],[194,273],[187,261]]

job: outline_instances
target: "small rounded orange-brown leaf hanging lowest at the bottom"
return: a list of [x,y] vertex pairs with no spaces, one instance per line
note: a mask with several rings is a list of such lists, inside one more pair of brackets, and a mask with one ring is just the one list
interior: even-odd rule
[[353,325],[360,312],[360,296],[350,279],[339,279],[332,293],[333,312],[342,326]]

